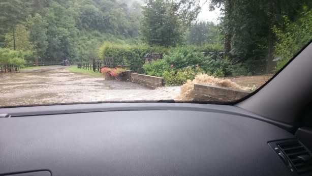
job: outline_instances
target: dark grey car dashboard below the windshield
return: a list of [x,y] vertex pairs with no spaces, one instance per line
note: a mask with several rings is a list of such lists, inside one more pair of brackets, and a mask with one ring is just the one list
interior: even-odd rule
[[[116,103],[0,109],[0,175],[296,175],[295,139],[238,107]],[[300,174],[301,175],[301,174]]]

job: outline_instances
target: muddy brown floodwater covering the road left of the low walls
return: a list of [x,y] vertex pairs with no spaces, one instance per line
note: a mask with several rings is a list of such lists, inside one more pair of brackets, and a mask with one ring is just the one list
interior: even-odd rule
[[132,82],[72,73],[60,66],[0,74],[0,106],[174,99],[179,87],[150,90]]

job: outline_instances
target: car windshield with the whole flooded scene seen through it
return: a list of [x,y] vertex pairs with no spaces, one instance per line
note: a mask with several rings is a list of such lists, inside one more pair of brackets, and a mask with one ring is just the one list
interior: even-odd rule
[[312,1],[2,0],[0,107],[237,101],[312,39]]

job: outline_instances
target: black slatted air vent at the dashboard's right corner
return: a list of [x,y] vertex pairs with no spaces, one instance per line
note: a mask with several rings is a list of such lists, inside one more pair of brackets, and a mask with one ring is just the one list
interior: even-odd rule
[[298,141],[277,144],[298,173],[312,171],[312,156]]

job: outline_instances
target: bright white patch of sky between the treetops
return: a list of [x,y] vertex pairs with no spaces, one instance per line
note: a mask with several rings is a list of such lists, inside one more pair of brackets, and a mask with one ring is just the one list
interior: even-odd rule
[[[201,0],[200,4],[203,4],[205,2],[205,0]],[[208,1],[207,3],[205,3],[202,6],[202,11],[198,14],[197,20],[198,21],[211,21],[214,24],[218,24],[220,23],[219,20],[217,20],[217,18],[221,15],[220,9],[215,9],[214,11],[209,11],[209,3],[210,1]]]

